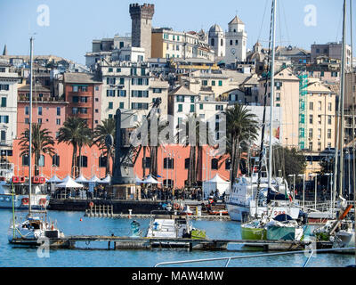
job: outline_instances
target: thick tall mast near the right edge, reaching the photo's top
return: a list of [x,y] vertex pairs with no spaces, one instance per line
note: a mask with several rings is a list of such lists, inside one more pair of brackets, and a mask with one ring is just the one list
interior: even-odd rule
[[339,195],[343,197],[344,187],[344,63],[345,63],[345,33],[346,33],[346,0],[344,0],[343,9],[343,53],[341,60],[341,78],[340,78],[340,110],[341,110],[341,134],[340,134],[340,172],[339,172]]

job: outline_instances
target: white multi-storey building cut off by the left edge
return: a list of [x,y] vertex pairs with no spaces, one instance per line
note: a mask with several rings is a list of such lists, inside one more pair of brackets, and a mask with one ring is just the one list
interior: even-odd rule
[[0,150],[10,151],[12,140],[16,138],[17,88],[19,77],[10,65],[0,63]]

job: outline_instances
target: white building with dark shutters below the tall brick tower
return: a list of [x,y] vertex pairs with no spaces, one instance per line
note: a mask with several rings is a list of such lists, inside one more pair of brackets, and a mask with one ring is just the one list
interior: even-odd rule
[[134,122],[147,116],[154,98],[160,97],[158,108],[167,114],[168,83],[150,74],[150,64],[131,61],[101,61],[101,120],[114,118],[117,109],[136,110]]

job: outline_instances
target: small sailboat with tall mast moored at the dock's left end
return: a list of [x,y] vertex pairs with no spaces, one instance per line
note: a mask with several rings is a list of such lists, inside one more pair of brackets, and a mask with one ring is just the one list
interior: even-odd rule
[[[30,38],[30,94],[29,94],[29,143],[28,143],[28,176],[32,176],[32,88],[33,88],[33,37]],[[32,209],[32,179],[28,179],[28,215],[15,216],[12,197],[12,221],[8,230],[8,240],[12,244],[38,246],[44,239],[64,238],[54,221],[47,220],[45,211]],[[12,191],[12,196],[14,192]]]

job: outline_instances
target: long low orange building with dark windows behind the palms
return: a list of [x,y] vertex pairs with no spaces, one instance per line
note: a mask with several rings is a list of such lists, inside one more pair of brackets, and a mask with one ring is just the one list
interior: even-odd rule
[[[64,178],[70,175],[72,147],[66,143],[59,143],[54,146],[56,156],[53,158],[44,154],[44,158],[40,163],[40,174],[46,178],[52,177],[54,174]],[[166,145],[165,148],[158,148],[158,182],[169,187],[182,188],[188,178],[190,148],[182,145],[172,144]],[[89,148],[85,146],[82,150],[82,174],[85,178],[91,178],[97,175],[99,178],[105,177],[105,159],[102,158],[102,152],[97,146]],[[146,151],[146,157],[150,158],[150,151]],[[203,148],[202,162],[199,167],[198,180],[206,181],[219,174],[223,179],[230,180],[230,162],[228,157],[218,159],[214,157],[212,149],[209,147]],[[143,177],[143,153],[139,154],[134,173],[139,178]],[[28,175],[28,159],[20,157],[19,140],[13,142],[12,163],[15,165],[15,175]],[[110,161],[110,169],[112,167]],[[145,175],[150,173],[150,159],[146,159]]]

